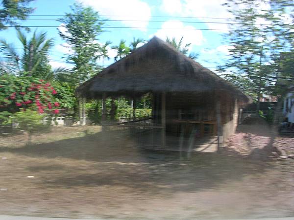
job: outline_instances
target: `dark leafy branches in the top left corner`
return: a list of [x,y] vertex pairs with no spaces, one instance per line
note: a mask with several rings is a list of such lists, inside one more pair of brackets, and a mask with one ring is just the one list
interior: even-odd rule
[[33,0],[1,0],[0,2],[0,30],[6,29],[7,25],[18,27],[15,19],[25,20],[34,8],[28,7]]

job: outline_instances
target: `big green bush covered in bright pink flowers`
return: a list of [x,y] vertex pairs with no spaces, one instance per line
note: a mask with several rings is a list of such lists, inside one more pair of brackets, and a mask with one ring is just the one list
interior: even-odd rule
[[18,112],[20,109],[38,113],[59,113],[57,91],[34,77],[0,76],[0,112]]

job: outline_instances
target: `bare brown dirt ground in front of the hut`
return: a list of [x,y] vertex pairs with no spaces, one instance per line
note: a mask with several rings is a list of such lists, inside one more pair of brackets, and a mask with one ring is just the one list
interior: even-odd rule
[[[253,127],[255,128],[255,127]],[[99,126],[0,136],[0,214],[68,218],[294,217],[294,160],[253,160],[270,141],[240,127],[221,153],[147,151]],[[263,132],[260,132],[263,131]],[[294,153],[294,138],[274,145]],[[33,177],[32,177],[33,176]]]

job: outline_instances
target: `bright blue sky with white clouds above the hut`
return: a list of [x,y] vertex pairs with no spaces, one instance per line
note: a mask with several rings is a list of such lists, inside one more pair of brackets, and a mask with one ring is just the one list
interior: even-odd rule
[[[228,45],[224,43],[222,35],[225,31],[215,29],[228,29],[225,22],[219,18],[229,18],[230,14],[221,6],[223,0],[76,0],[86,6],[92,6],[99,12],[101,18],[109,20],[106,24],[109,27],[129,28],[104,28],[107,30],[99,36],[99,42],[111,41],[112,45],[119,44],[121,39],[129,44],[132,39],[143,38],[149,40],[154,35],[165,40],[175,37],[177,41],[183,36],[184,43],[191,43],[190,52],[199,53],[198,62],[211,70],[214,70],[218,63],[226,59]],[[50,64],[53,67],[68,66],[62,57],[69,49],[64,47],[64,41],[58,35],[57,27],[61,25],[58,21],[32,21],[41,19],[58,19],[65,12],[70,11],[70,5],[75,0],[35,0],[31,6],[36,8],[31,21],[22,22],[27,26],[56,26],[38,27],[38,31],[47,31],[48,37],[54,39],[54,47],[50,55]],[[43,15],[43,16],[38,16]],[[54,15],[54,16],[50,16]],[[57,16],[55,16],[57,15]],[[116,17],[118,16],[118,17]],[[184,18],[190,17],[190,18]],[[193,18],[192,18],[193,17]],[[210,17],[208,19],[207,17]],[[218,19],[212,19],[218,18]],[[139,21],[139,22],[138,22]],[[200,23],[197,23],[200,22]],[[135,28],[135,27],[140,27]],[[156,27],[156,29],[149,29]],[[59,27],[60,28],[60,27]],[[193,28],[209,29],[195,30]],[[35,30],[34,27],[31,28]],[[61,28],[62,30],[62,28]],[[13,28],[0,32],[0,38],[14,43],[20,48],[17,42],[16,33]],[[31,33],[29,33],[31,34]],[[110,57],[115,56],[115,51],[109,48]],[[113,63],[113,59],[105,61],[104,65]],[[102,61],[98,61],[102,64]]]

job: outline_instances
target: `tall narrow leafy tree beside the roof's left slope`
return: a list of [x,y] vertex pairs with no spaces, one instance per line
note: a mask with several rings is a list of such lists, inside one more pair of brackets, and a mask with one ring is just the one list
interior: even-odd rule
[[77,86],[97,71],[97,53],[100,51],[97,40],[103,22],[99,21],[98,12],[81,3],[74,3],[71,10],[71,13],[66,13],[60,19],[66,31],[59,30],[59,35],[73,50],[72,54],[67,54],[67,61],[74,65],[72,76],[73,83]]

